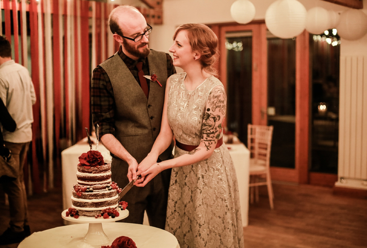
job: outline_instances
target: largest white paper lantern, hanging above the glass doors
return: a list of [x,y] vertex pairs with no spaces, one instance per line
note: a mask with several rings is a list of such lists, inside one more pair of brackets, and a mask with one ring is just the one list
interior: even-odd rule
[[306,8],[297,0],[277,0],[265,12],[265,24],[277,37],[288,39],[305,30]]

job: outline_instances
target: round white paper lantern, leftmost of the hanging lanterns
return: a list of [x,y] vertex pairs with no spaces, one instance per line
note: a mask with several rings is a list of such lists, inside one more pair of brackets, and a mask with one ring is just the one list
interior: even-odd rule
[[238,23],[249,23],[255,17],[255,6],[248,0],[237,0],[230,7],[230,15]]

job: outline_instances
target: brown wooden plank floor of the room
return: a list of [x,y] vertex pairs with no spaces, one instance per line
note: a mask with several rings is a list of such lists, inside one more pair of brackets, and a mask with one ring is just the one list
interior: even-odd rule
[[[249,225],[244,228],[246,248],[367,247],[366,199],[333,195],[331,188],[312,185],[275,182],[273,187],[274,210],[270,210],[265,187],[260,189],[259,203],[250,205]],[[2,233],[9,218],[4,194],[0,194]],[[32,196],[28,205],[32,232],[63,225],[61,190]]]

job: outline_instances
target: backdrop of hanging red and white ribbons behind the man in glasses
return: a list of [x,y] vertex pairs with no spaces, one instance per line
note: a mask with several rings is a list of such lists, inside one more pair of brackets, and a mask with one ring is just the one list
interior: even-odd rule
[[37,97],[25,165],[29,194],[60,186],[61,150],[91,128],[91,71],[118,49],[108,26],[116,6],[87,0],[1,1],[5,28],[0,26],[0,32],[11,41],[12,59],[29,69]]

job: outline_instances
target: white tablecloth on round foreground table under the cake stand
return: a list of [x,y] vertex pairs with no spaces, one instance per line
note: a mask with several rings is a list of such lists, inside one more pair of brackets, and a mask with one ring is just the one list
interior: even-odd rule
[[[61,218],[61,217],[60,217]],[[76,224],[60,226],[33,233],[25,238],[18,248],[92,248],[93,246],[82,242],[87,234],[89,224]],[[111,245],[115,238],[120,236],[130,237],[139,248],[179,248],[175,236],[165,230],[152,226],[131,223],[109,222],[102,224],[103,232],[109,238]]]

